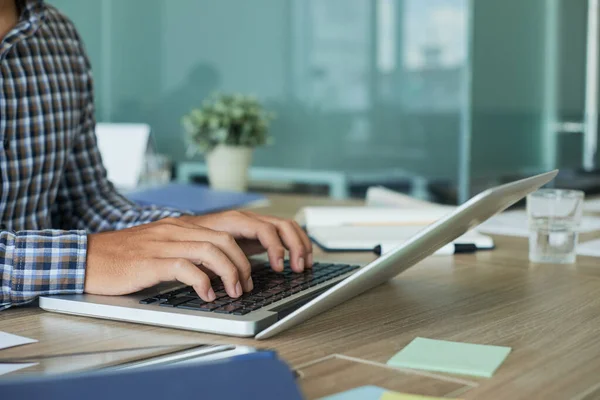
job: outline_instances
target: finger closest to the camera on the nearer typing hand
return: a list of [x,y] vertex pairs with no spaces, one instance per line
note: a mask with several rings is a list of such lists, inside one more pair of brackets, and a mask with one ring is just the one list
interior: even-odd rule
[[152,263],[162,282],[179,281],[194,288],[204,301],[214,301],[217,297],[210,286],[209,277],[184,258],[157,259]]

